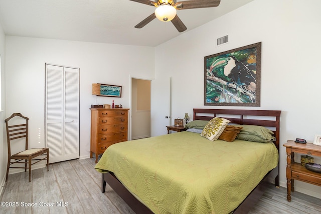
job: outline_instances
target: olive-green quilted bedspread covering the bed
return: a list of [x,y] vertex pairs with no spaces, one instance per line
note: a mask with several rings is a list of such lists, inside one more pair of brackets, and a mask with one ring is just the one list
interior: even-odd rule
[[277,163],[272,143],[185,131],[113,144],[95,168],[114,172],[155,213],[229,213]]

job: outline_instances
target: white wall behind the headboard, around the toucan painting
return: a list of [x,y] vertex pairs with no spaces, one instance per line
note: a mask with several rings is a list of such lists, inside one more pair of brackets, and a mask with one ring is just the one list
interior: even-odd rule
[[[320,8],[319,0],[255,0],[156,47],[155,59],[171,56],[155,62],[155,77],[172,76],[172,120],[185,112],[191,117],[193,108],[282,110],[280,184],[285,187],[282,144],[296,137],[311,142],[321,134]],[[229,43],[216,47],[225,35]],[[257,42],[262,42],[261,106],[204,106],[204,57]],[[319,186],[295,181],[295,190],[321,198]]]

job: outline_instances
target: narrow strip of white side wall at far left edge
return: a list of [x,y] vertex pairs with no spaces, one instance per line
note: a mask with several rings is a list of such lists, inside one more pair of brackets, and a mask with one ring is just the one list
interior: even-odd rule
[[4,121],[6,119],[6,36],[3,31],[3,28],[0,23],[0,55],[1,55],[1,106],[0,110],[0,194],[3,189],[3,184],[6,180],[6,170],[7,170],[7,160],[8,160],[8,150],[7,150],[7,138],[6,138],[6,130],[4,128]]

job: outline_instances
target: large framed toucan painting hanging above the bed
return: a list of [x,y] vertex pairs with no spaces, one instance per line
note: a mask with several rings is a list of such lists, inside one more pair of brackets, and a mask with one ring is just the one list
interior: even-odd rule
[[204,57],[204,105],[260,106],[261,42]]

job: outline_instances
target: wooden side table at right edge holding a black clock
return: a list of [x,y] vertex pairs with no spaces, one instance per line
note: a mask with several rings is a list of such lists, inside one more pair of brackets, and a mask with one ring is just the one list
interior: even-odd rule
[[286,187],[287,201],[291,201],[291,191],[294,191],[294,179],[321,186],[321,173],[307,170],[301,163],[294,162],[294,153],[321,156],[321,146],[312,143],[295,143],[288,140],[286,147]]

